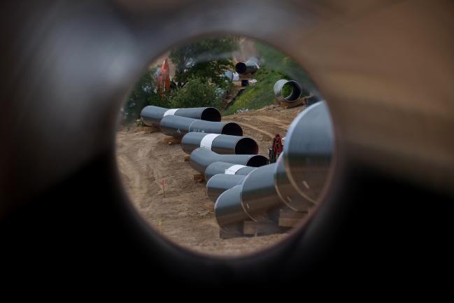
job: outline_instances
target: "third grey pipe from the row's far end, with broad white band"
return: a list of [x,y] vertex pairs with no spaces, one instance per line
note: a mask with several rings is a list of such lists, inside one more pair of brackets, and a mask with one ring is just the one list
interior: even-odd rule
[[259,152],[257,142],[245,136],[188,132],[181,139],[181,148],[187,154],[199,147],[208,148],[218,154],[257,155]]

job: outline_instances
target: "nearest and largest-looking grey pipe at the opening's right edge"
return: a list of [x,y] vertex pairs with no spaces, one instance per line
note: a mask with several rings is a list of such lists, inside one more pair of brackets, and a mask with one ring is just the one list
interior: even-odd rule
[[290,183],[315,203],[327,181],[334,150],[334,130],[325,101],[309,106],[293,120],[284,150]]

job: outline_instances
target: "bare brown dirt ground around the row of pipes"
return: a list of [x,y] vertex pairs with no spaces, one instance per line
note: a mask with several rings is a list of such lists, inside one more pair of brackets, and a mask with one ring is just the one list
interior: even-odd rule
[[[271,138],[285,136],[288,125],[302,107],[284,109],[267,106],[257,111],[229,115],[222,120],[238,122],[244,136],[259,144],[268,156]],[[163,142],[164,134],[125,129],[117,134],[117,159],[125,188],[139,213],[165,237],[201,253],[239,255],[274,244],[285,234],[220,239],[213,202],[206,183],[193,180],[194,171],[180,145]],[[165,197],[162,190],[165,182]]]

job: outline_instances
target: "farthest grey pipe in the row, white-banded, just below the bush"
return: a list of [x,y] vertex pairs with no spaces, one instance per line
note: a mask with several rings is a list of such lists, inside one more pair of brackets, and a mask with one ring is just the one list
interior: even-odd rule
[[205,121],[219,122],[220,112],[214,107],[194,108],[164,108],[159,106],[145,106],[141,111],[143,123],[148,126],[159,126],[159,122],[166,115],[178,115],[180,117],[193,118]]

